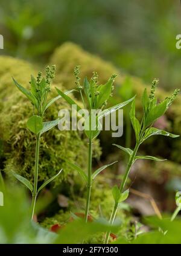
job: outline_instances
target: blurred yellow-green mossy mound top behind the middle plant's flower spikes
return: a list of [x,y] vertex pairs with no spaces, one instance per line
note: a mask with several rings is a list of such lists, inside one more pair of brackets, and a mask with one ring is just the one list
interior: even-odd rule
[[[106,83],[112,74],[119,74],[111,63],[104,62],[100,57],[96,57],[74,43],[64,43],[52,54],[51,63],[57,67],[57,76],[55,82],[62,82],[66,88],[73,88],[75,78],[72,73],[76,65],[81,66],[80,78],[92,77],[92,72],[96,71],[99,75],[100,83]],[[116,78],[116,83],[122,82],[122,79]]]

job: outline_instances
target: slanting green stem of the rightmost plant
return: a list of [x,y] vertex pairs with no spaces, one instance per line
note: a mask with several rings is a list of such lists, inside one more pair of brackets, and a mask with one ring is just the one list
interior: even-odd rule
[[[130,173],[130,170],[131,170],[132,165],[133,165],[133,163],[135,161],[135,156],[136,156],[136,153],[138,152],[139,145],[140,145],[139,142],[136,142],[135,149],[133,150],[133,153],[132,153],[132,155],[129,158],[129,162],[128,162],[127,168],[125,170],[124,177],[123,177],[121,185],[119,187],[119,190],[121,191],[121,193],[122,193],[122,190],[124,189],[124,186],[125,186],[125,184],[127,182],[127,178],[129,176],[129,173]],[[113,207],[112,214],[110,216],[110,220],[109,220],[109,224],[110,225],[113,225],[113,223],[115,221],[117,210],[118,210],[118,203],[115,203],[115,205]],[[104,244],[107,244],[109,242],[109,235],[110,235],[110,231],[107,231],[106,232],[106,237],[104,239]]]

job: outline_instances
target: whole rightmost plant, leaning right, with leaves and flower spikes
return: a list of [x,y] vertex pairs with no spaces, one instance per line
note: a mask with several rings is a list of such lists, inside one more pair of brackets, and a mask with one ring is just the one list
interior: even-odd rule
[[[119,149],[123,150],[125,153],[129,155],[129,162],[127,164],[127,168],[125,169],[125,173],[121,181],[120,187],[118,188],[118,186],[115,185],[115,187],[113,187],[112,189],[115,205],[113,207],[112,214],[110,216],[110,220],[109,220],[110,225],[114,223],[119,203],[127,199],[127,197],[129,196],[129,190],[124,191],[124,187],[134,162],[137,159],[150,159],[154,161],[167,160],[167,159],[159,159],[154,156],[137,156],[139,146],[147,138],[153,135],[164,135],[164,136],[170,136],[171,138],[176,138],[179,136],[179,135],[174,135],[170,132],[166,132],[165,130],[159,130],[153,127],[153,124],[157,120],[157,118],[165,114],[168,107],[171,105],[171,103],[173,103],[173,101],[175,100],[175,98],[180,92],[179,89],[176,89],[174,93],[171,95],[171,97],[167,97],[165,98],[164,101],[157,104],[157,98],[155,97],[154,94],[155,94],[155,90],[156,90],[156,86],[158,85],[158,82],[159,80],[157,79],[153,80],[153,83],[151,85],[151,92],[149,96],[147,95],[147,89],[145,88],[144,90],[144,93],[142,95],[143,117],[142,117],[141,123],[135,117],[135,100],[133,100],[132,102],[132,107],[130,110],[130,120],[132,122],[133,130],[135,131],[135,137],[136,137],[135,149],[132,150],[129,148],[125,148],[125,147],[113,144],[114,146],[118,147]],[[110,235],[110,232],[107,231],[106,237],[104,239],[104,243],[109,242],[109,235]]]

